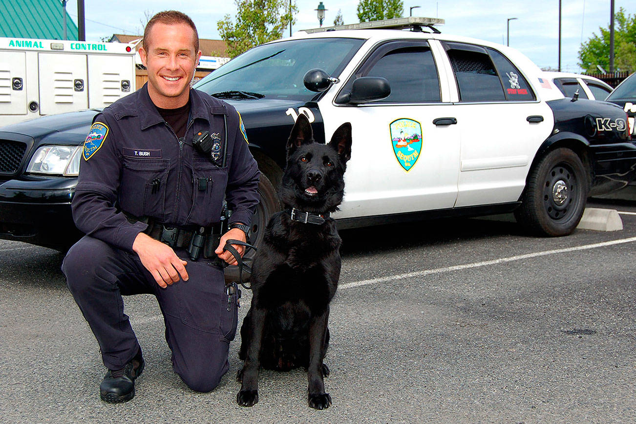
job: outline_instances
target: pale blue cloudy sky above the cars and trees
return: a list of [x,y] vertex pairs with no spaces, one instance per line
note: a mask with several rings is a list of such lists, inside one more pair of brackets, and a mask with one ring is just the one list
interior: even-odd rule
[[[345,24],[359,22],[356,8],[359,0],[323,0],[327,8],[323,26],[333,25],[338,10],[342,10]],[[293,31],[318,26],[315,9],[319,0],[296,0],[298,15]],[[510,46],[522,51],[539,67],[558,64],[558,0],[404,0],[404,16],[442,18],[446,24],[441,32],[506,43],[506,20],[510,21]],[[636,0],[616,0],[627,13],[636,14]],[[114,33],[135,34],[141,31],[144,12],[156,13],[177,8],[193,18],[200,38],[220,39],[216,22],[226,14],[235,16],[236,5],[231,1],[186,0],[85,0],[86,39],[99,41]],[[77,1],[69,0],[67,10],[77,22]],[[609,0],[562,0],[562,71],[579,72],[578,51],[598,27],[609,25]],[[285,32],[289,35],[289,29]]]

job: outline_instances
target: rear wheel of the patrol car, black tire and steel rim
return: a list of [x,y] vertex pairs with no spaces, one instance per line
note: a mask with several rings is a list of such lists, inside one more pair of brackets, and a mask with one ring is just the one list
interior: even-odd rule
[[516,220],[534,235],[569,235],[581,221],[589,191],[588,172],[579,156],[559,147],[530,171]]

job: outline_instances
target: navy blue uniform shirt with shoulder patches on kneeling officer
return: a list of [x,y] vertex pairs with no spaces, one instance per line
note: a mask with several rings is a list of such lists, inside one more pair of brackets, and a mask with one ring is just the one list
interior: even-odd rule
[[[209,226],[220,221],[224,196],[233,212],[230,224],[250,224],[260,173],[240,115],[198,90],[190,90],[190,102],[183,139],[160,116],[146,85],[93,118],[72,203],[81,231],[132,252],[135,237],[147,226],[130,223],[123,212],[166,224]],[[227,143],[225,167],[193,147],[193,137],[204,130]]]

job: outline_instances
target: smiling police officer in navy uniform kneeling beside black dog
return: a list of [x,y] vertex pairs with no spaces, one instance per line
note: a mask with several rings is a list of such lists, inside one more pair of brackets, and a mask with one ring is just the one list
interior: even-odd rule
[[[187,15],[151,18],[139,50],[148,83],[97,114],[84,145],[73,217],[86,236],[62,270],[108,369],[106,402],[132,399],[144,368],[121,295],[156,296],[172,367],[190,388],[209,392],[228,370],[237,295],[220,261],[237,263],[223,246],[245,241],[259,171],[240,114],[190,88],[198,44]],[[224,196],[233,213],[221,235]]]

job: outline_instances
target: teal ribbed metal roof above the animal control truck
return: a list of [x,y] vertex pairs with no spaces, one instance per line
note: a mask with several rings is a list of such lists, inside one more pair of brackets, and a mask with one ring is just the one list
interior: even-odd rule
[[[64,39],[60,0],[0,2],[0,37]],[[78,39],[78,27],[66,12],[66,39]]]

